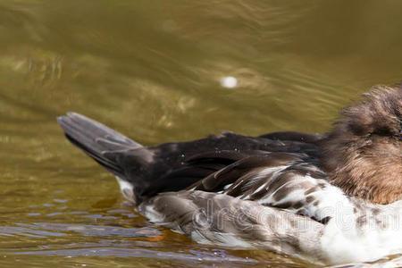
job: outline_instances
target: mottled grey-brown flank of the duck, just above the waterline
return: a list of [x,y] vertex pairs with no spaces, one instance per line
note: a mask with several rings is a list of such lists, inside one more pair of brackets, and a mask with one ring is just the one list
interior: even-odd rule
[[322,261],[321,223],[255,202],[204,191],[180,191],[158,195],[139,210],[153,222],[187,234],[198,243],[265,248]]

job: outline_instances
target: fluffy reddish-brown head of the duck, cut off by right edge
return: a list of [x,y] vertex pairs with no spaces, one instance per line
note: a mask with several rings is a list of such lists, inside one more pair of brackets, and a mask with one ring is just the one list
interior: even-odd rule
[[322,139],[322,167],[349,196],[402,199],[402,88],[376,87],[344,108]]

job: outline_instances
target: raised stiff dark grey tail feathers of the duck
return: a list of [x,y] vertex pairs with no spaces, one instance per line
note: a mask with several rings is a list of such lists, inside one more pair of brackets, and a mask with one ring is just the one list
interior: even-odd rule
[[123,175],[124,172],[113,157],[114,154],[110,153],[142,147],[121,133],[79,113],[67,113],[58,117],[57,121],[72,144],[116,175]]

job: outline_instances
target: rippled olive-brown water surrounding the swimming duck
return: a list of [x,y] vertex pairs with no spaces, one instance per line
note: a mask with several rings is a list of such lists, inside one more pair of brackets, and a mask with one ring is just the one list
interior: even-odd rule
[[55,117],[146,145],[328,130],[402,79],[399,1],[0,2],[0,266],[305,267],[147,223]]

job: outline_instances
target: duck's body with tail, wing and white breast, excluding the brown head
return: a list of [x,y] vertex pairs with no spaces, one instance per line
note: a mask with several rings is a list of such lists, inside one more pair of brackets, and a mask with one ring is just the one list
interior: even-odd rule
[[322,264],[402,253],[402,201],[378,204],[331,183],[322,161],[331,134],[226,132],[143,147],[78,113],[58,121],[149,221],[199,243],[266,248]]

